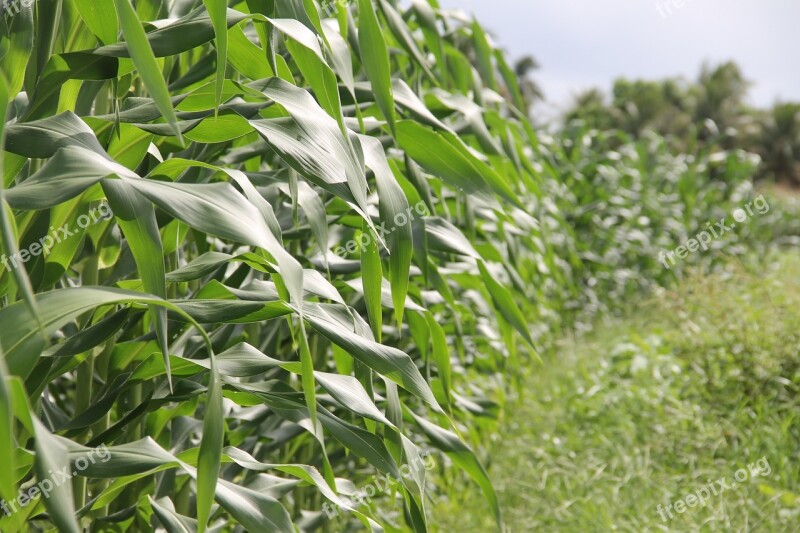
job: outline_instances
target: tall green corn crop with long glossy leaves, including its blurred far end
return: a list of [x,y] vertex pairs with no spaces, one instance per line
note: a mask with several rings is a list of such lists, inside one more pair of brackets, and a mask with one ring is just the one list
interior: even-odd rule
[[464,478],[502,528],[516,370],[753,168],[540,136],[436,0],[38,0],[0,54],[4,532],[426,531]]

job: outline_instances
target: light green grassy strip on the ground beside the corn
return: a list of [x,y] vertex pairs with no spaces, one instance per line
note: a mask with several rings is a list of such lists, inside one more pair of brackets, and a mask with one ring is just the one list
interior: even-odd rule
[[[759,273],[689,277],[561,343],[490,452],[509,530],[797,531],[798,331],[800,256],[784,254]],[[764,475],[659,516],[762,457]],[[438,529],[491,530],[471,487],[450,492]]]

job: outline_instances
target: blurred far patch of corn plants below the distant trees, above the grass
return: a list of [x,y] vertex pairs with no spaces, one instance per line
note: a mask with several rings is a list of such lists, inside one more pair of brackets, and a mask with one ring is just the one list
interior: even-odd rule
[[[635,139],[581,126],[542,139],[542,165],[553,176],[546,196],[568,228],[553,242],[569,286],[581,288],[562,302],[565,310],[579,310],[590,322],[654,286],[670,286],[686,268],[713,269],[725,257],[774,242],[769,228],[791,219],[780,210],[768,211],[769,219],[754,213],[676,264],[663,260],[721,218],[731,221],[754,195],[757,157],[724,150],[722,142],[694,144],[694,153],[676,154],[654,133]],[[798,235],[796,228],[781,227],[786,237]]]

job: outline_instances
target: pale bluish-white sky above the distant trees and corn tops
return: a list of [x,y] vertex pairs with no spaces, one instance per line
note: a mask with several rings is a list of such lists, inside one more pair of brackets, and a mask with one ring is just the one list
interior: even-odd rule
[[[754,82],[749,103],[800,101],[798,0],[439,0],[474,13],[512,59],[533,55],[533,77],[563,108],[612,81],[683,76],[735,60]],[[680,7],[677,7],[680,5]]]

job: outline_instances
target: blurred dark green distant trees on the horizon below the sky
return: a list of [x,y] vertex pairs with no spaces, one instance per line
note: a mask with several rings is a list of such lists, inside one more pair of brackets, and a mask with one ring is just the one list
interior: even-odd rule
[[614,82],[611,97],[598,89],[579,94],[564,114],[600,130],[635,137],[656,131],[677,151],[698,142],[721,144],[759,155],[760,179],[800,184],[800,104],[782,102],[770,110],[745,103],[751,83],[736,63],[705,65],[696,81],[682,78]]

